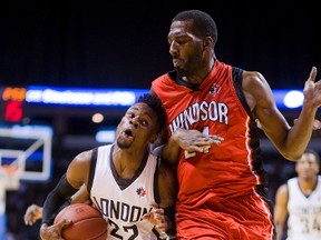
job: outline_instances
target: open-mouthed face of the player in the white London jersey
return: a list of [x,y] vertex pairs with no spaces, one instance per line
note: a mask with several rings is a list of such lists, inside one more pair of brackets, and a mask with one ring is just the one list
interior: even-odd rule
[[146,103],[138,102],[130,107],[116,131],[119,148],[146,148],[157,138],[157,116]]

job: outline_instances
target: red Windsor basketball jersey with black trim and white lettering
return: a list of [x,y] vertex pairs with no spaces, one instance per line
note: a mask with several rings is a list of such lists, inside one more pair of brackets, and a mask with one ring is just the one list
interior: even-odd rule
[[231,66],[216,60],[197,90],[177,84],[168,73],[155,79],[152,88],[165,106],[169,134],[184,128],[224,138],[208,153],[181,151],[177,210],[246,194],[261,184],[262,160],[254,159],[257,137],[237,97]]

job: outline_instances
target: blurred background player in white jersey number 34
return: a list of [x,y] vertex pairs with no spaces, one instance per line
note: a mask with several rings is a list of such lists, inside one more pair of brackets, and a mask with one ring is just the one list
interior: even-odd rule
[[288,240],[321,239],[319,154],[308,149],[295,163],[295,171],[298,177],[289,179],[276,191],[274,207],[276,240],[282,239],[285,222]]

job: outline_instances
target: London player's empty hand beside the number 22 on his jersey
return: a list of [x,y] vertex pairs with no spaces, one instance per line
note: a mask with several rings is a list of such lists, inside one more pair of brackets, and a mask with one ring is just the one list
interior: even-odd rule
[[172,223],[167,221],[167,217],[164,214],[164,209],[159,208],[157,204],[152,204],[152,211],[144,214],[143,219],[148,220],[155,226],[158,232],[165,232],[172,228]]

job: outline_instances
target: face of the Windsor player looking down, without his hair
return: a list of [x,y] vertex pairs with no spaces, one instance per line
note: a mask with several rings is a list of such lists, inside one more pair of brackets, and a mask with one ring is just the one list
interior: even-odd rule
[[203,59],[203,39],[192,33],[192,21],[174,21],[167,36],[173,66],[181,77],[197,74]]

